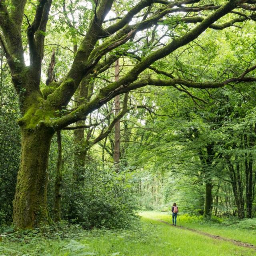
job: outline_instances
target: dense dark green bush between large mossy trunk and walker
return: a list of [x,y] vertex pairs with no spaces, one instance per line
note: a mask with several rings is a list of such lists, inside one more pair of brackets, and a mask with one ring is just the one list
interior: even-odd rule
[[64,188],[62,214],[85,229],[94,227],[128,228],[137,219],[137,204],[125,174],[101,170],[90,163],[85,170],[85,184]]

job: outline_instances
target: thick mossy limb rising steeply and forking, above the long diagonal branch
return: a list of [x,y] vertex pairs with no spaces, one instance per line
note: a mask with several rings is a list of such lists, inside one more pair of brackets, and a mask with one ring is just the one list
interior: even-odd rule
[[[105,3],[104,8],[103,2]],[[94,48],[96,42],[99,39],[99,28],[102,26],[103,22],[102,17],[106,14],[106,11],[109,10],[112,6],[112,1],[107,1],[107,3],[105,1],[101,1],[97,9],[97,22],[95,22],[95,20],[92,20],[86,36],[84,37],[84,40],[82,41],[77,51],[72,68],[66,76],[66,80],[72,80],[73,82],[72,84],[70,84],[67,81],[64,81],[60,88],[58,88],[52,94],[51,104],[54,104],[53,107],[60,108],[68,104],[76,88],[78,88],[82,78],[94,69],[102,56],[117,48],[118,46],[126,43],[139,30],[149,28],[153,24],[156,24],[157,21],[164,15],[172,11],[174,12],[175,9],[172,9],[172,7],[174,7],[175,4],[187,4],[194,2],[196,1],[187,0],[169,3],[164,8],[160,8],[154,15],[152,15],[152,17],[144,20],[143,22],[139,22],[134,26],[126,25],[120,32],[118,32],[118,34],[114,38],[107,40],[101,46]]]

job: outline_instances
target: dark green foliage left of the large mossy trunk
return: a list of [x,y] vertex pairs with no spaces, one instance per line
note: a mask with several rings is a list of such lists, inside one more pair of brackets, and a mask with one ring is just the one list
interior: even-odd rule
[[[0,51],[0,58],[2,52]],[[0,59],[0,226],[12,222],[12,200],[20,158],[18,99]]]

